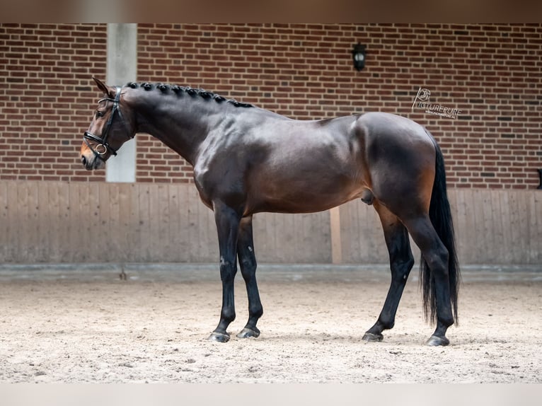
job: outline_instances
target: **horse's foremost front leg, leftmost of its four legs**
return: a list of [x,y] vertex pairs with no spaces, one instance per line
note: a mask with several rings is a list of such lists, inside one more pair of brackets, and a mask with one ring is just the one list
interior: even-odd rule
[[219,237],[222,308],[219,325],[209,335],[209,340],[228,342],[230,336],[226,330],[235,320],[233,282],[237,273],[236,245],[240,216],[226,204],[214,202],[214,219],[217,223]]

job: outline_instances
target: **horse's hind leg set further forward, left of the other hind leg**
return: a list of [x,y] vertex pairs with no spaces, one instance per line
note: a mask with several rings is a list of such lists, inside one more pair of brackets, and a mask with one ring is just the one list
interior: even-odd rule
[[382,332],[393,328],[399,301],[403,295],[410,270],[414,265],[408,231],[405,226],[397,216],[376,201],[375,209],[380,216],[390,257],[391,284],[378,320],[363,336],[363,340],[369,342],[383,340]]

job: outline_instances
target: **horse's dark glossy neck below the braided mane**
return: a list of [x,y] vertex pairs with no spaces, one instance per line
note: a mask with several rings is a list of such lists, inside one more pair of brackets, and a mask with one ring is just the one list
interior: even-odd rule
[[132,108],[136,131],[151,134],[192,166],[200,144],[223,114],[214,102],[190,95],[139,91]]

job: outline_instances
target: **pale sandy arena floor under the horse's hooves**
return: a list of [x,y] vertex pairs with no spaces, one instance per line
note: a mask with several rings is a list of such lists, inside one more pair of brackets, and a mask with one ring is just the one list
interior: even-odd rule
[[361,337],[388,289],[385,267],[260,266],[258,339],[226,344],[209,265],[0,268],[0,383],[540,383],[542,272],[463,271],[449,347],[424,347],[417,272],[384,342]]

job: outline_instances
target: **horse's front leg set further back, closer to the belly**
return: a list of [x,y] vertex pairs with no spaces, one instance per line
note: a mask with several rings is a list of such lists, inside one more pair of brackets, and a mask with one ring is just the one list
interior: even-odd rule
[[256,257],[254,254],[254,242],[252,234],[252,216],[243,217],[239,224],[237,239],[237,256],[241,266],[241,274],[246,284],[248,296],[248,323],[237,335],[238,338],[258,337],[260,330],[256,327],[258,319],[263,315],[262,302],[256,283]]

